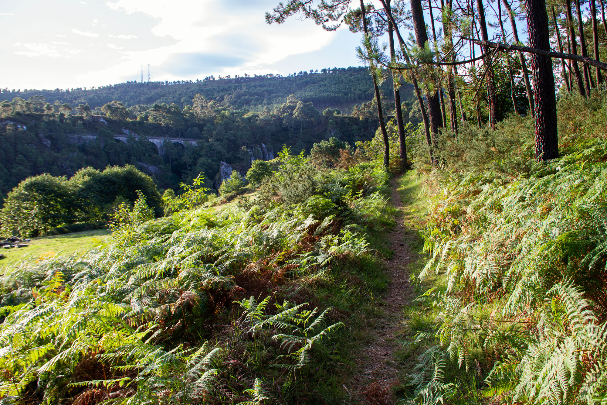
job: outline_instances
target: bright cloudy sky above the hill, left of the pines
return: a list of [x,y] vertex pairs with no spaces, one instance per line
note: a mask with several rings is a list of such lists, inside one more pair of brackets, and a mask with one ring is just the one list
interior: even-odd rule
[[0,1],[0,88],[202,80],[359,66],[361,34],[268,25],[279,0]]

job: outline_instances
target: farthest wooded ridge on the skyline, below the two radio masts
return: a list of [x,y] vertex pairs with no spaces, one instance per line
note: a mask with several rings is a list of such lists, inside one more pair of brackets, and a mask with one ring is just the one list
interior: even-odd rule
[[[384,96],[393,99],[392,81],[381,86]],[[402,88],[403,99],[412,97],[412,87]],[[367,67],[334,67],[320,72],[299,72],[296,75],[280,77],[276,75],[256,75],[254,77],[212,76],[197,81],[152,81],[138,83],[127,81],[118,85],[98,88],[76,88],[55,90],[0,89],[0,101],[15,97],[29,99],[42,95],[46,100],[78,105],[88,103],[98,108],[112,100],[126,106],[153,105],[154,103],[176,104],[181,108],[192,102],[196,94],[208,100],[215,100],[236,109],[257,111],[266,106],[276,106],[287,102],[294,94],[304,103],[311,102],[318,109],[340,105],[353,105],[373,99],[373,81]]]

